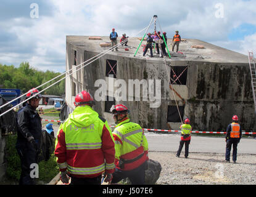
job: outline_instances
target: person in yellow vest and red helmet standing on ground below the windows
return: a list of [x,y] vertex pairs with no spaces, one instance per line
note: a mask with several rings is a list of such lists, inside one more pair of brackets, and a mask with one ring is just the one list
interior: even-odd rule
[[191,131],[192,127],[190,125],[190,120],[188,118],[184,119],[184,124],[180,126],[181,129],[181,140],[180,140],[180,146],[176,153],[176,157],[179,158],[181,154],[181,150],[183,148],[183,145],[185,143],[185,158],[188,158],[189,155],[189,143],[191,141]]

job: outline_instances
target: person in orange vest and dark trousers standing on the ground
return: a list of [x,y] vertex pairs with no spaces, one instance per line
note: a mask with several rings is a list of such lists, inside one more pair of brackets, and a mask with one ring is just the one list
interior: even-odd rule
[[233,123],[228,125],[228,128],[226,129],[226,158],[225,161],[227,163],[230,162],[230,151],[231,147],[233,145],[233,162],[236,163],[236,156],[237,156],[237,144],[240,142],[242,137],[242,129],[240,127],[240,124],[238,122],[237,115],[234,115]]

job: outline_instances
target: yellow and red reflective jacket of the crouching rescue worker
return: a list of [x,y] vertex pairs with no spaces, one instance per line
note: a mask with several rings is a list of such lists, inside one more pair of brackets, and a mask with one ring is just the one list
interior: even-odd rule
[[125,119],[117,124],[113,136],[115,140],[115,165],[118,169],[120,169],[118,166],[120,159],[128,161],[142,155],[141,158],[132,163],[125,163],[123,171],[135,169],[148,160],[147,139],[139,124],[131,123],[130,119]]

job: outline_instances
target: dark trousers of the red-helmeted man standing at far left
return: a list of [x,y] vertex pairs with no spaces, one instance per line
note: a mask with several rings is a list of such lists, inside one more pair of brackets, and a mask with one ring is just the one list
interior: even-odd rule
[[35,169],[30,169],[30,166],[31,164],[38,163],[38,153],[30,143],[24,147],[16,146],[16,150],[20,156],[20,164],[22,169],[19,185],[35,185],[35,179],[31,178],[30,176],[30,172]]

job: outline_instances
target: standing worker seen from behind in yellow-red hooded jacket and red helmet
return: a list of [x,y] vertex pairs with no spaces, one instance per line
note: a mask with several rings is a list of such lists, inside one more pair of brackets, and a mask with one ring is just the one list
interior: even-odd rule
[[111,182],[115,169],[115,143],[109,124],[93,110],[91,94],[75,97],[75,110],[60,125],[56,148],[60,179],[71,185],[101,185]]

